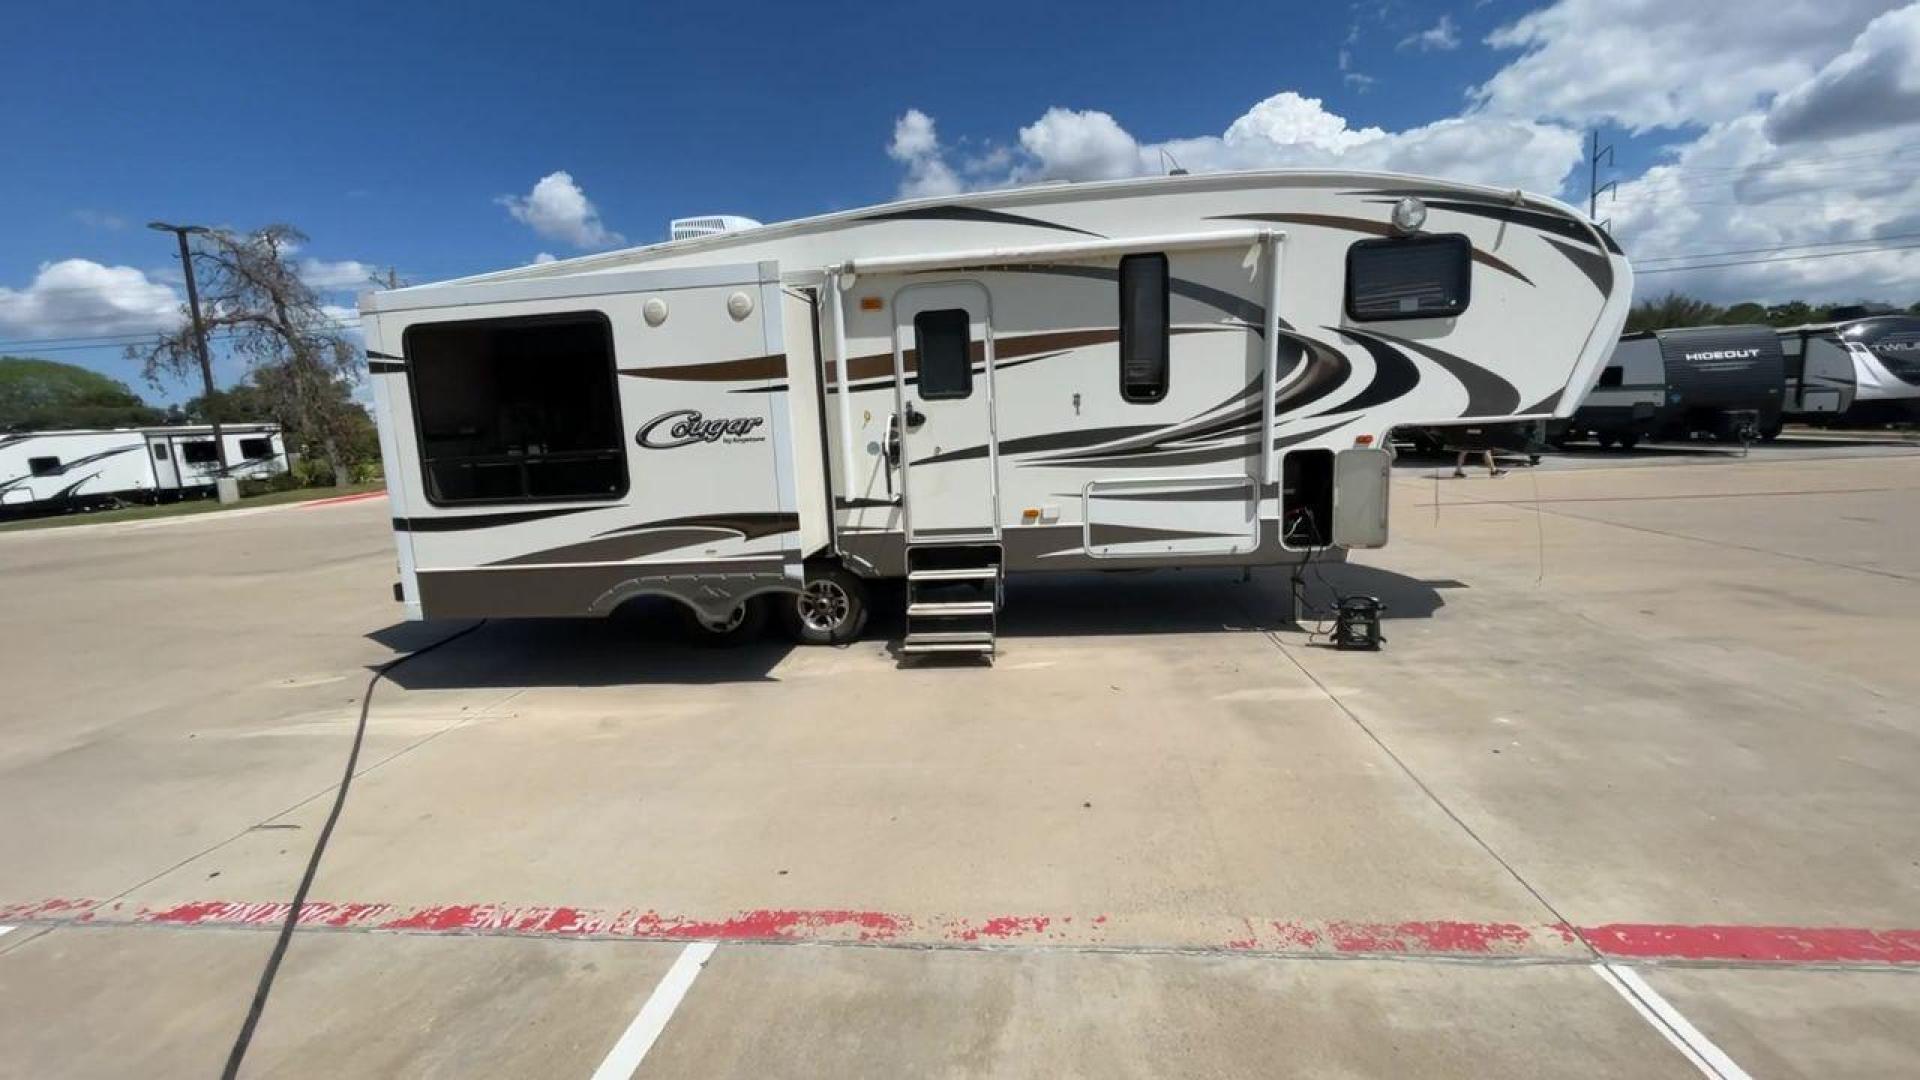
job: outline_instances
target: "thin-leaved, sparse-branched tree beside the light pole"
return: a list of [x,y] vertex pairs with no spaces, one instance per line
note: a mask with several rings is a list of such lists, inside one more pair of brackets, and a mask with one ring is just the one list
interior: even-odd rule
[[[300,279],[292,254],[305,240],[292,225],[207,233],[198,236],[194,269],[207,332],[223,336],[246,359],[280,423],[307,440],[309,454],[319,450],[336,482],[346,482],[353,421],[346,409],[357,405],[351,394],[342,394],[342,384],[359,379],[359,346]],[[127,356],[142,361],[156,384],[200,371],[192,327],[150,346],[129,346]]]

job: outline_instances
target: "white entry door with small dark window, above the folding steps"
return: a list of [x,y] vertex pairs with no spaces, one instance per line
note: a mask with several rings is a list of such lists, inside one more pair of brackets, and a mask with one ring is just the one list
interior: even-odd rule
[[998,538],[987,290],[973,282],[899,290],[893,380],[908,542]]

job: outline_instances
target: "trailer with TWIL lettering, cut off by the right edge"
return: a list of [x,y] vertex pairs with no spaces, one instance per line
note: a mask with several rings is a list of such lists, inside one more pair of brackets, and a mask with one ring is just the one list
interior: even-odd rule
[[1780,331],[1786,411],[1803,423],[1920,419],[1920,315],[1868,315]]

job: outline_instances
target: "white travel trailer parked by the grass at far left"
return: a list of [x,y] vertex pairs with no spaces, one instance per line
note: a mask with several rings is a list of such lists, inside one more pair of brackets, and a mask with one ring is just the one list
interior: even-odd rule
[[[227,475],[286,471],[275,425],[221,425]],[[0,434],[0,515],[163,502],[213,488],[221,459],[211,427],[29,430]]]

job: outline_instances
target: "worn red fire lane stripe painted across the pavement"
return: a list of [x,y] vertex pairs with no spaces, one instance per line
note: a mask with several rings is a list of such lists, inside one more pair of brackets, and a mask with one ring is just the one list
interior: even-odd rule
[[[0,922],[94,922],[171,926],[276,926],[284,903],[198,901],[140,907],[92,899],[0,905]],[[463,903],[313,901],[301,926],[413,934],[516,934],[557,938],[634,938],[651,942],[948,942],[1102,945],[1125,942],[1106,915],[996,915],[989,919],[908,917],[852,909],[756,909],[720,919],[659,911]],[[1213,947],[1263,953],[1572,957],[1588,942],[1607,959],[1724,961],[1776,965],[1920,965],[1920,930],[1855,926],[1526,926],[1519,922],[1248,922],[1244,936]],[[1206,945],[1202,945],[1206,947]]]

